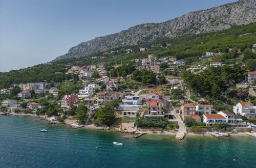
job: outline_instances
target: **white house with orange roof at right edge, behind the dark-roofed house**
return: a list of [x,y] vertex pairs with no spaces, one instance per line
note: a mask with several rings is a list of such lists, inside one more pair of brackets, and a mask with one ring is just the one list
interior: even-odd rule
[[247,118],[256,118],[256,106],[253,106],[251,102],[239,102],[233,106],[233,111]]

